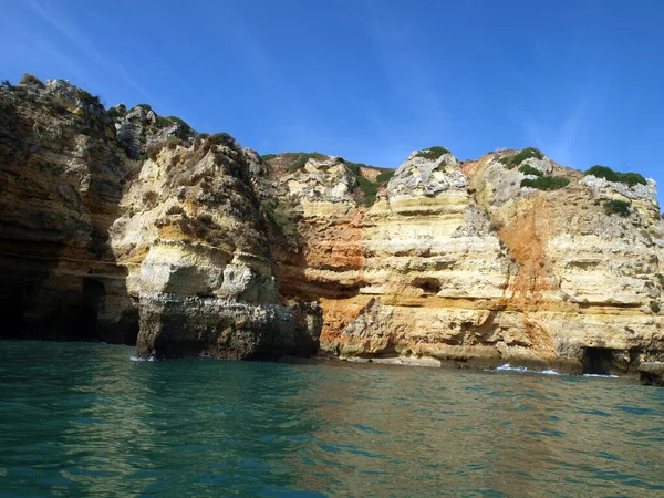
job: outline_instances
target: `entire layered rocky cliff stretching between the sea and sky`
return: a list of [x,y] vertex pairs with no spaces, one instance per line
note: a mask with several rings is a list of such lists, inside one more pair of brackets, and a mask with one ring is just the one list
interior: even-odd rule
[[320,336],[404,362],[664,360],[651,180],[529,149],[415,152],[391,179],[333,156],[262,160],[59,81],[1,89],[0,120],[6,335],[160,357],[311,354]]

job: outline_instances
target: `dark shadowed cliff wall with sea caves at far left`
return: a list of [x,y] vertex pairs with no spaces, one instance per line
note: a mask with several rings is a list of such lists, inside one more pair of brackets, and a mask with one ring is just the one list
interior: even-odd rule
[[65,82],[0,89],[0,335],[134,342],[107,245],[133,164],[103,106],[76,95]]

